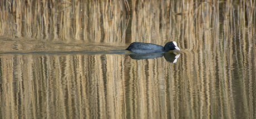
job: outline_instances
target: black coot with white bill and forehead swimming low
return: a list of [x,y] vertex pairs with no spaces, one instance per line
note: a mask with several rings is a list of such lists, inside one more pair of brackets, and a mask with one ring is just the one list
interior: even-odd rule
[[145,53],[161,53],[166,52],[169,50],[179,50],[176,42],[168,42],[164,46],[156,45],[152,43],[140,43],[134,42],[131,43],[126,50],[132,51],[138,54],[145,54]]

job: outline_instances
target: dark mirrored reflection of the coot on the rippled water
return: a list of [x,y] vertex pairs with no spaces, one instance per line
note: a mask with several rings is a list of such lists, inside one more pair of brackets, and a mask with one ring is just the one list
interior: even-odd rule
[[159,58],[164,56],[166,61],[171,63],[176,63],[180,54],[176,55],[174,53],[150,53],[150,54],[130,54],[131,59],[151,59]]

